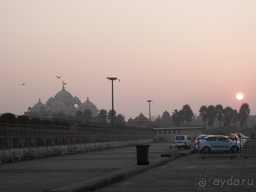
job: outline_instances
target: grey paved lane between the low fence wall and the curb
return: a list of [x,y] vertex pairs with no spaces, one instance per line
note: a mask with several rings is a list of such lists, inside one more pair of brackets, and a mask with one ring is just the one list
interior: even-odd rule
[[[148,160],[165,153],[166,144],[151,143]],[[133,165],[137,165],[135,146],[4,163],[0,164],[0,191],[41,192]]]

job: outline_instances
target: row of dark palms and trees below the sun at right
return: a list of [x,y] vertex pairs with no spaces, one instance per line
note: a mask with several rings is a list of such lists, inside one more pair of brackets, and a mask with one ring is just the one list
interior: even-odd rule
[[[199,110],[199,118],[206,124],[213,128],[214,122],[219,121],[219,126],[222,125],[227,129],[231,125],[236,126],[240,122],[240,126],[247,128],[247,118],[250,114],[248,103],[242,103],[239,112],[232,109],[230,106],[226,108],[222,104],[217,105],[202,105]],[[158,117],[153,123],[153,127],[169,127],[169,126],[191,126],[193,119],[197,118],[196,114],[191,110],[189,104],[184,104],[181,110],[175,109],[170,115],[165,111],[162,117]],[[173,123],[173,124],[172,124]]]

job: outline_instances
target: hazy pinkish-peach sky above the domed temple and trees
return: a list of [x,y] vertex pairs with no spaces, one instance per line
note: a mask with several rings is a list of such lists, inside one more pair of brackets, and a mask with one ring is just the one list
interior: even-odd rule
[[149,117],[147,100],[152,116],[243,102],[255,115],[255,10],[254,0],[0,0],[0,113],[46,103],[62,80],[109,111],[106,77],[117,77],[126,120]]

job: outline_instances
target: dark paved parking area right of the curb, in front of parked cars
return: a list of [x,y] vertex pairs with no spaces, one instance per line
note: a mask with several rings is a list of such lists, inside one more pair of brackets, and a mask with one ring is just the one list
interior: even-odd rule
[[256,191],[255,158],[178,158],[96,191]]

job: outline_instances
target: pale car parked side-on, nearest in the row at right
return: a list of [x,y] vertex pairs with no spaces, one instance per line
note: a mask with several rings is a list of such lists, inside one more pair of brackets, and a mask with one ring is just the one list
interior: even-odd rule
[[199,150],[203,153],[210,152],[239,152],[241,146],[241,150],[244,150],[244,146],[242,143],[233,141],[227,136],[207,136],[196,143],[196,150]]

